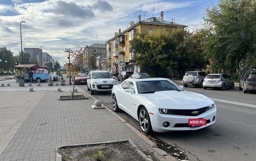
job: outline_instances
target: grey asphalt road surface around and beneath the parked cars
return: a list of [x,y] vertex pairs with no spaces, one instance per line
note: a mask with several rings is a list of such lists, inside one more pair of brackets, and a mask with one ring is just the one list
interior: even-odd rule
[[[87,91],[86,85],[80,87]],[[185,90],[207,95],[216,102],[216,123],[198,131],[157,133],[153,137],[186,151],[189,160],[255,160],[256,94],[243,94],[238,89],[204,90],[190,86]],[[111,108],[111,93],[98,93],[94,97]],[[140,130],[134,118],[124,112],[119,115]]]

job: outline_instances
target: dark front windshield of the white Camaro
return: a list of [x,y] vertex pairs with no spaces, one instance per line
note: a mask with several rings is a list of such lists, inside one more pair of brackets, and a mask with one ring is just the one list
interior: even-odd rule
[[156,91],[177,90],[182,91],[179,86],[173,84],[168,80],[152,80],[152,81],[138,81],[136,82],[139,94],[155,93]]

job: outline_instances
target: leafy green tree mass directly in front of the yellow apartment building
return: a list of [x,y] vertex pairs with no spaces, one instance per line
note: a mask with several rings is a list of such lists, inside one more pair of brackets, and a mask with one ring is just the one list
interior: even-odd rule
[[174,71],[183,75],[189,69],[206,67],[208,61],[203,57],[201,39],[202,35],[184,30],[141,33],[131,40],[136,53],[134,61],[141,71],[152,76],[173,76]]

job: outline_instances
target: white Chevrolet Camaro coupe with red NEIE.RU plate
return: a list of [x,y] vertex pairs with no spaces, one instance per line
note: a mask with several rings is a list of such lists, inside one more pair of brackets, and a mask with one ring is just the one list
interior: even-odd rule
[[165,78],[126,79],[112,89],[113,111],[125,111],[146,134],[198,130],[216,121],[216,104]]

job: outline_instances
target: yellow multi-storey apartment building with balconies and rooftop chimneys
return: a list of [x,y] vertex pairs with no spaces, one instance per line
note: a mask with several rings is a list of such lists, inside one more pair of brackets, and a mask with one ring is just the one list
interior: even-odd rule
[[150,19],[141,20],[141,16],[138,16],[138,20],[130,23],[130,27],[124,31],[119,29],[115,36],[106,42],[107,48],[107,65],[106,69],[113,74],[121,71],[140,72],[140,67],[133,61],[135,56],[134,50],[130,45],[130,40],[134,38],[136,33],[153,33],[157,30],[166,30],[166,32],[172,32],[177,29],[185,29],[186,25],[176,24],[172,21],[166,21],[163,19],[163,12],[160,17],[151,17]]

